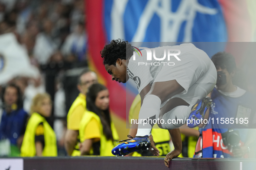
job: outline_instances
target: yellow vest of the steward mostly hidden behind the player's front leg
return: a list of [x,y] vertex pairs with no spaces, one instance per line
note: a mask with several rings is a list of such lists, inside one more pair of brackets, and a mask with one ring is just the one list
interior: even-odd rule
[[[138,94],[134,98],[133,103],[131,105],[131,108],[129,111],[129,121],[131,121],[131,119],[134,119],[134,120],[139,119],[140,103],[141,103],[140,96]],[[156,128],[159,128],[157,124],[153,126],[151,134],[154,137],[156,148],[158,148],[159,150],[159,154],[160,154],[159,156],[166,156],[166,154],[168,154],[171,151],[170,145],[169,145],[170,134],[166,129],[156,129]],[[133,152],[132,155],[136,157],[153,156],[149,151],[136,151],[136,152]]]

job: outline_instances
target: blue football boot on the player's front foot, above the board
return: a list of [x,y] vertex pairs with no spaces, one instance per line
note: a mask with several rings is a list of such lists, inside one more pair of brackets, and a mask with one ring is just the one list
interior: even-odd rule
[[[127,135],[129,138],[133,138],[130,135]],[[144,151],[149,150],[149,147],[151,145],[149,136],[135,136],[133,139],[126,139],[119,145],[117,145],[115,148],[112,149],[112,154],[116,156],[124,156],[126,154],[130,154],[134,151]]]

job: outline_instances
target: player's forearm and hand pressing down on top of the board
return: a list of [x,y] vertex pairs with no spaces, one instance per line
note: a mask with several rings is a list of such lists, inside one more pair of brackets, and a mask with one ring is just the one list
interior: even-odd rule
[[182,151],[182,141],[181,141],[180,129],[169,129],[168,131],[172,138],[174,150],[169,152],[165,157],[165,166],[166,167],[169,167],[169,161],[171,161],[172,158],[178,157],[178,155],[181,154],[181,151]]

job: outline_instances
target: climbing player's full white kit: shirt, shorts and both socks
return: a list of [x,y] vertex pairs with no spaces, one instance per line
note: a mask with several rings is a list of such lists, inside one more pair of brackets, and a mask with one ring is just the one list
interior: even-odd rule
[[[147,49],[149,51],[149,49]],[[156,47],[150,49],[152,60],[147,60],[147,51],[141,50],[142,56],[135,53],[130,57],[127,73],[130,79],[136,83],[139,93],[150,84],[176,80],[185,90],[172,98],[181,98],[190,106],[178,106],[164,113],[161,123],[164,129],[174,129],[185,124],[191,107],[199,99],[207,96],[216,84],[217,71],[214,63],[203,51],[194,44],[181,44],[177,46]],[[180,54],[179,54],[180,52]],[[176,57],[168,54],[178,54]],[[135,60],[134,60],[135,59]],[[169,99],[170,100],[170,99]],[[158,96],[150,94],[143,100],[139,112],[139,120],[158,119],[160,108],[169,100],[161,103]],[[181,122],[166,123],[168,120],[184,120]],[[146,128],[143,130],[143,128]],[[139,124],[137,136],[150,134],[152,124]]]

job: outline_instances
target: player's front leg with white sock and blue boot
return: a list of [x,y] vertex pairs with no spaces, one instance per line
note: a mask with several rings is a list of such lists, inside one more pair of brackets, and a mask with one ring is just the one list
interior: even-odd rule
[[[136,137],[130,141],[117,145],[113,148],[112,154],[122,156],[133,151],[149,148],[149,135],[151,134],[151,129],[154,125],[154,121],[149,121],[158,119],[162,102],[181,91],[184,91],[184,88],[182,88],[176,80],[153,83],[151,90],[143,99],[143,104],[139,111],[139,120],[142,119],[143,124],[138,125]],[[147,120],[148,122],[144,123],[144,120]]]

